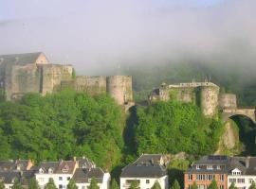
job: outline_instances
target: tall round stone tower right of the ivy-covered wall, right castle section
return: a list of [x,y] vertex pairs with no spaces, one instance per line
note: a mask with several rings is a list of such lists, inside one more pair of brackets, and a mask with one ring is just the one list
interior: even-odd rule
[[205,116],[211,117],[217,112],[219,91],[217,85],[200,87],[200,108]]

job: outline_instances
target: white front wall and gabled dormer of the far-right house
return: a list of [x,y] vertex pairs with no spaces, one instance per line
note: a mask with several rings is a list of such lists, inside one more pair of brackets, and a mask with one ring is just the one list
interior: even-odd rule
[[228,188],[234,182],[238,189],[248,189],[252,181],[256,183],[256,175],[242,175],[241,171],[235,168],[231,175],[228,175]]

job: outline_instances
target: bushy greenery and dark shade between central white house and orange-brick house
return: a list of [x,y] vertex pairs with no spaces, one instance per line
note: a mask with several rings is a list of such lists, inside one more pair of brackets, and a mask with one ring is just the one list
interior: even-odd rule
[[168,175],[170,185],[174,184],[174,180],[177,180],[181,185],[184,185],[184,171],[189,168],[190,162],[187,160],[175,159],[168,165]]

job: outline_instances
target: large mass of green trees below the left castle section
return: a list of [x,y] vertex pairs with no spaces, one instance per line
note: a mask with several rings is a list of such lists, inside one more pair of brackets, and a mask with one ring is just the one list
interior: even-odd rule
[[86,156],[104,168],[119,163],[121,110],[106,94],[26,94],[0,103],[0,160],[56,161]]

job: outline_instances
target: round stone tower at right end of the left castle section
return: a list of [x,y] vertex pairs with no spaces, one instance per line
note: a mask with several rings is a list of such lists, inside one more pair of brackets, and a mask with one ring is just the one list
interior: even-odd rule
[[107,94],[111,95],[119,105],[133,101],[132,77],[107,77]]

